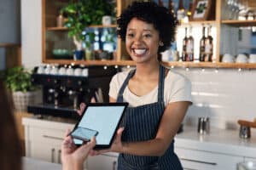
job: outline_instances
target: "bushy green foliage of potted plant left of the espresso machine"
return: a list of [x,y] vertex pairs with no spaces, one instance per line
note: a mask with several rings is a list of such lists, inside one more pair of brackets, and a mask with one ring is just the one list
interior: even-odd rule
[[34,91],[37,86],[32,84],[32,73],[27,71],[22,66],[7,69],[1,73],[6,88],[9,88],[13,92],[21,91]]

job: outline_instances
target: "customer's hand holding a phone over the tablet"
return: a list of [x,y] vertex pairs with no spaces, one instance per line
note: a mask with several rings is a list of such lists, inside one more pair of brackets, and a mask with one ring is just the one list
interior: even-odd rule
[[67,130],[66,137],[61,145],[63,170],[82,170],[85,159],[96,144],[96,138],[93,137],[90,142],[77,147],[69,133],[70,130]]

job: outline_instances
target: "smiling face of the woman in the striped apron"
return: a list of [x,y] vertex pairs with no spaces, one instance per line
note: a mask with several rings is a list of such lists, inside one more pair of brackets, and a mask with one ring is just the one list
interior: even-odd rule
[[133,18],[127,26],[125,46],[131,59],[136,63],[157,60],[159,31],[152,24]]

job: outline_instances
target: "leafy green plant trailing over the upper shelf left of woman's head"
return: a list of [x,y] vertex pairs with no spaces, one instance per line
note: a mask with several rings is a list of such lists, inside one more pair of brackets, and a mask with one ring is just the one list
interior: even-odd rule
[[102,16],[115,16],[114,5],[107,0],[79,0],[70,2],[61,8],[61,14],[67,20],[68,36],[75,37],[78,41],[84,41],[91,33],[83,34],[84,28],[91,25],[101,25]]

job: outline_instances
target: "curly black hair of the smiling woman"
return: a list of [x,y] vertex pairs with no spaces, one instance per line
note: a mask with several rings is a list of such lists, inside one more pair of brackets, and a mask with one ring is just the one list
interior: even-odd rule
[[117,19],[117,34],[124,42],[127,25],[133,18],[153,24],[154,28],[160,32],[160,41],[164,45],[159,47],[159,54],[171,47],[171,43],[175,40],[177,26],[177,19],[171,11],[154,2],[136,1],[131,3]]

